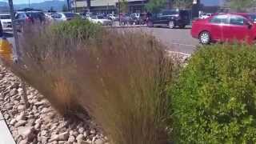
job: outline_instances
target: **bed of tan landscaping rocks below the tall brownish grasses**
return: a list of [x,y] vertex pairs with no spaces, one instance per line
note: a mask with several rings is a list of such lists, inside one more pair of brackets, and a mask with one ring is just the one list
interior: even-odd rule
[[38,90],[26,89],[28,108],[22,103],[20,80],[0,65],[0,110],[17,144],[92,144],[93,138],[94,142],[104,140],[87,116],[78,117],[84,121],[63,118]]

